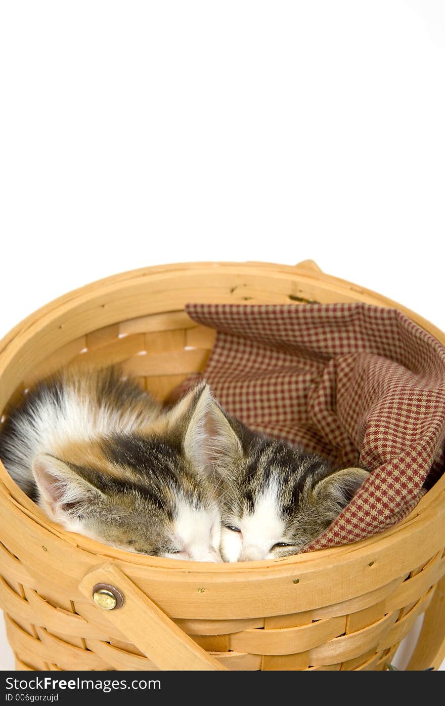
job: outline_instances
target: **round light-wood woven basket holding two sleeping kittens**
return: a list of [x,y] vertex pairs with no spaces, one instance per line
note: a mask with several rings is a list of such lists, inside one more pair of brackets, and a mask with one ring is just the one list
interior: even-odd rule
[[[445,342],[419,316],[310,261],[147,268],[67,294],[11,331],[0,344],[0,409],[71,360],[121,362],[165,397],[212,347],[187,301],[307,300],[397,306]],[[17,669],[384,669],[424,611],[408,668],[445,656],[445,477],[379,537],[236,565],[127,554],[63,532],[3,467],[0,505],[0,604]],[[121,608],[95,604],[99,583],[123,594]]]

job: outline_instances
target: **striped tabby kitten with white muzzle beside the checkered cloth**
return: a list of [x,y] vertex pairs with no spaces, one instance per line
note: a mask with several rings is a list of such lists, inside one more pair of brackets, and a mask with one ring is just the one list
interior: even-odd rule
[[204,388],[190,455],[219,484],[221,556],[257,561],[301,551],[329,527],[368,477],[255,433]]

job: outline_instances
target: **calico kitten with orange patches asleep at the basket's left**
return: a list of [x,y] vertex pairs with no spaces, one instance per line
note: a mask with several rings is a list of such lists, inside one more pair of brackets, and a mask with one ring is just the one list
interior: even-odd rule
[[169,412],[116,369],[60,373],[0,431],[0,459],[70,532],[119,549],[221,561],[219,506],[190,457],[202,386]]

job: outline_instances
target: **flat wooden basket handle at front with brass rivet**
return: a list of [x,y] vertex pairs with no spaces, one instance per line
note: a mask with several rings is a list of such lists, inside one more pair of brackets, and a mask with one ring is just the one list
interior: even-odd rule
[[138,647],[159,669],[227,671],[114,564],[92,569],[79,584],[79,590],[94,605],[92,593],[97,584],[109,584],[123,596],[120,608],[102,611],[96,606],[97,610],[102,611],[110,623],[126,635],[128,642]]

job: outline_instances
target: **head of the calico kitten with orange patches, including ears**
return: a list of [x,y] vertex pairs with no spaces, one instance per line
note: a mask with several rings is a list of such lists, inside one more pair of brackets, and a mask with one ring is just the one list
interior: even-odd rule
[[119,549],[221,561],[217,495],[193,454],[207,397],[200,385],[145,429],[38,455],[40,507],[66,530]]

